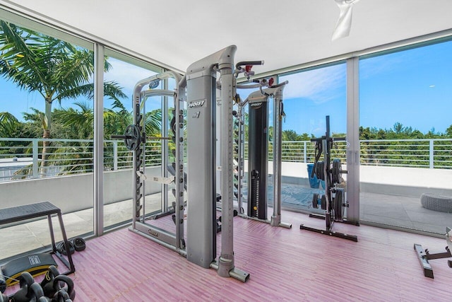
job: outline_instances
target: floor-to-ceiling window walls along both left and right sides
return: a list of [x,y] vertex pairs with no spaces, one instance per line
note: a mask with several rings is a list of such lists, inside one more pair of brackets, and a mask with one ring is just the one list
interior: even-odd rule
[[[6,192],[7,183],[10,191],[0,196],[0,208],[49,200],[67,214],[69,237],[100,235],[104,228],[130,219],[131,202],[114,209],[114,214],[107,211],[116,202],[130,200],[132,194],[131,177],[126,174],[131,173],[131,154],[124,150],[121,141],[113,141],[110,136],[121,134],[131,123],[131,93],[136,81],[159,73],[162,68],[88,37],[72,35],[9,11],[0,9],[0,21],[24,39],[32,32],[25,40],[38,41],[37,45],[30,45],[34,47],[30,53],[40,57],[36,64],[22,69],[35,76],[27,74],[15,79],[1,69],[0,187]],[[5,30],[0,30],[0,39],[2,57],[8,57],[13,64],[31,62],[28,52],[11,48]],[[450,41],[429,42],[366,54],[357,57],[357,70],[348,69],[348,60],[280,74],[279,82],[289,81],[284,91],[287,116],[283,123],[283,206],[312,210],[308,165],[313,161],[314,147],[309,140],[325,134],[325,117],[329,115],[331,133],[336,137],[355,139],[347,124],[359,127],[362,221],[444,233],[446,223],[441,221],[450,220],[451,213],[422,207],[420,196],[452,195],[447,185],[452,181],[451,45]],[[105,54],[109,64],[103,72],[95,72],[99,53],[96,50],[102,50],[102,57]],[[83,59],[85,69],[64,78],[64,71],[74,59]],[[359,95],[354,100],[359,102],[359,117],[347,113],[350,75],[359,84]],[[99,81],[107,83],[104,98],[95,95],[94,84]],[[59,88],[52,91],[45,89],[46,85]],[[168,86],[172,88],[174,83]],[[47,95],[49,91],[52,95]],[[101,99],[102,106],[97,108]],[[147,112],[160,108],[161,100],[150,103],[157,105],[149,105]],[[271,111],[270,106],[270,115]],[[95,120],[100,118],[103,129],[96,132]],[[167,120],[162,118],[160,130],[162,123],[168,127]],[[95,142],[103,151],[102,160],[97,158],[102,161],[100,169],[95,165]],[[346,153],[347,144],[338,144],[335,157],[343,165]],[[102,176],[95,174],[96,169],[102,170],[97,171]],[[112,177],[121,169],[124,178]],[[20,181],[25,178],[27,182]],[[347,175],[344,181],[347,182]],[[321,184],[317,186],[314,190],[321,192]],[[302,195],[304,189],[309,194]],[[97,212],[96,206],[104,211]],[[13,236],[8,240],[11,245],[20,245]],[[33,241],[27,248],[47,244]]]

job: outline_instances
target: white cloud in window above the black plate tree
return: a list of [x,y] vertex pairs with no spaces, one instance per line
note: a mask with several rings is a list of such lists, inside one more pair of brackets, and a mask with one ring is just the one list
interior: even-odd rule
[[345,86],[345,64],[283,76],[280,81],[288,80],[284,89],[284,98],[309,98],[315,103],[325,103],[337,95],[337,89]]

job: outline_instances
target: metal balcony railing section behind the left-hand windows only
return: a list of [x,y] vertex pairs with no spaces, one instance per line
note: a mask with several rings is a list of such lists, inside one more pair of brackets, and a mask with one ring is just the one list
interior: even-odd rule
[[[49,141],[45,159],[44,139],[0,138],[0,181],[44,178],[93,172],[90,139],[45,139]],[[160,165],[161,141],[146,143],[145,163]],[[104,170],[132,168],[132,152],[122,140],[104,141]]]

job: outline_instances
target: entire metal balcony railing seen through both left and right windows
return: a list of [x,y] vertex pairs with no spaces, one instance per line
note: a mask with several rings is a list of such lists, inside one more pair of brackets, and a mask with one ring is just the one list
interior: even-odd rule
[[[0,138],[0,181],[93,172],[93,140],[47,139],[50,146],[45,161],[42,160],[42,141],[44,139]],[[361,165],[452,168],[452,139],[363,140],[360,146]],[[160,165],[161,149],[161,141],[146,143],[146,165]],[[272,144],[269,149],[271,161]],[[283,161],[314,161],[311,141],[283,141],[281,149]],[[332,158],[340,158],[345,163],[346,150],[347,143],[338,141]],[[124,141],[104,141],[105,170],[131,168],[132,164],[132,152],[126,149]]]

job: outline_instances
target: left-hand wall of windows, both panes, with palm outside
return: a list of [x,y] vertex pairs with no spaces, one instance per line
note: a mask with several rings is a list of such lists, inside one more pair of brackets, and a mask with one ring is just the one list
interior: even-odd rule
[[[127,170],[130,152],[121,153],[121,141],[109,137],[123,133],[131,124],[131,91],[136,81],[162,68],[100,45],[96,48],[93,42],[9,11],[0,9],[0,22],[0,190],[4,193],[0,209],[52,202],[64,214],[69,238],[98,235],[103,228],[131,219],[131,168],[119,171]],[[28,48],[14,45],[11,35]],[[106,55],[105,69],[101,66],[99,72],[95,69],[99,55],[95,49]],[[18,66],[20,72],[14,74],[7,66]],[[102,76],[105,97],[100,102],[95,79]],[[103,136],[95,131],[99,117]],[[109,174],[105,177],[96,176],[95,143],[99,141],[98,146],[104,149],[102,174]],[[121,194],[115,194],[118,190]],[[128,209],[109,208],[120,204],[118,198]],[[100,202],[105,203],[105,209]],[[1,250],[2,258],[50,243],[45,219],[1,228],[0,232],[8,247]],[[61,239],[58,228],[56,235]],[[23,244],[25,238],[27,244]]]

